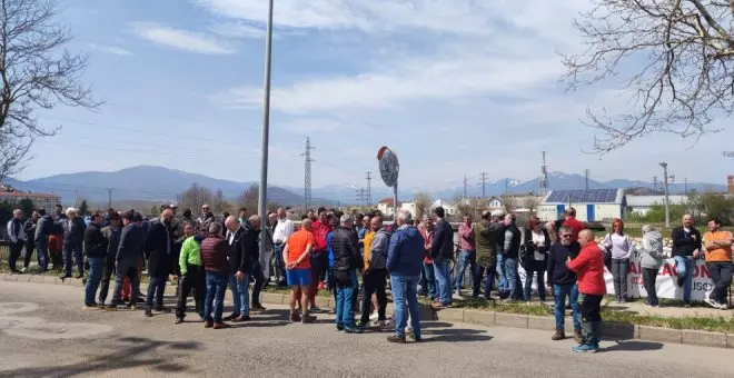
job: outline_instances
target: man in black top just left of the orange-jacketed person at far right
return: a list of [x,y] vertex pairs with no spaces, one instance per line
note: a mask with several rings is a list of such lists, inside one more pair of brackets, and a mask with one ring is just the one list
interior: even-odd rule
[[703,239],[701,238],[701,232],[693,227],[693,217],[690,213],[683,216],[683,225],[673,229],[671,239],[673,239],[672,255],[678,277],[677,284],[683,287],[683,301],[685,306],[690,307],[695,260],[703,255]]

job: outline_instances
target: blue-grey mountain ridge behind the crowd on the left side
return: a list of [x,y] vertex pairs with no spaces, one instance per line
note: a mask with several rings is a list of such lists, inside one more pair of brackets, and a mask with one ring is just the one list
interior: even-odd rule
[[[87,171],[57,175],[8,183],[23,191],[52,192],[61,196],[65,203],[72,203],[76,198],[106,203],[107,188],[112,188],[112,198],[117,200],[173,201],[176,196],[188,189],[194,182],[212,191],[221,189],[225,198],[235,199],[256,182],[236,182],[220,180],[204,175],[153,166],[126,168],[113,172]],[[302,203],[301,196],[278,187],[268,187],[268,197],[282,205]]]

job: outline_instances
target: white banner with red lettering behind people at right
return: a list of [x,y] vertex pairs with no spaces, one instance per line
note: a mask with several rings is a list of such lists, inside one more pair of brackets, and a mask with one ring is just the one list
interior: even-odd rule
[[[666,248],[665,252],[669,255],[669,249]],[[519,267],[519,277],[523,285],[525,285],[525,269]],[[606,268],[604,269],[604,281],[606,282],[606,292],[613,295],[614,281],[612,280],[612,273],[606,270]],[[657,281],[655,282],[657,297],[683,300],[683,287],[677,286],[676,281],[675,260],[672,258],[665,259],[661,270],[657,272]],[[537,281],[535,279],[533,279],[533,289],[537,290]],[[691,300],[703,301],[705,298],[704,296],[708,296],[713,289],[714,285],[711,280],[711,273],[708,272],[706,262],[702,257],[702,259],[695,261],[693,282],[691,285]],[[643,284],[638,252],[633,252],[633,256],[629,259],[629,267],[627,268],[627,296],[633,298],[647,297],[647,291],[645,291],[645,286]]]

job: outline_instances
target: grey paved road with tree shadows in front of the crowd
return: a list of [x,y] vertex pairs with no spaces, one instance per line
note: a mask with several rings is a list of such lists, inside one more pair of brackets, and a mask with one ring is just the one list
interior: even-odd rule
[[425,324],[424,344],[344,335],[331,319],[290,325],[284,307],[227,330],[172,315],[81,309],[81,290],[0,284],[4,377],[732,377],[732,350],[605,341],[574,355],[548,332]]

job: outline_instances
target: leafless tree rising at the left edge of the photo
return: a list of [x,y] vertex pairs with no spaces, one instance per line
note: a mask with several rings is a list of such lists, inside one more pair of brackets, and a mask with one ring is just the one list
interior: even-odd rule
[[100,106],[79,79],[87,57],[65,49],[71,33],[59,13],[52,0],[0,0],[0,156],[11,157],[0,179],[24,168],[33,137],[58,131],[39,127],[37,110]]

